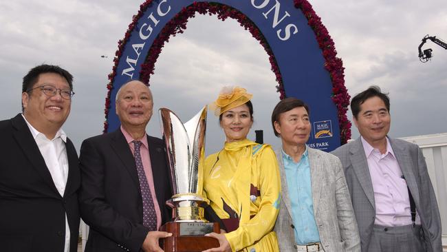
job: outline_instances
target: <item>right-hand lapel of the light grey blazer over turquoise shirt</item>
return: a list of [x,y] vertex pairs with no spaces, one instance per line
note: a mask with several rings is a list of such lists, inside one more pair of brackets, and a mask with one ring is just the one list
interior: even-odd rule
[[310,179],[312,186],[312,198],[314,202],[314,216],[318,211],[320,202],[321,178],[323,178],[323,164],[320,161],[320,155],[314,149],[307,148],[309,155]]

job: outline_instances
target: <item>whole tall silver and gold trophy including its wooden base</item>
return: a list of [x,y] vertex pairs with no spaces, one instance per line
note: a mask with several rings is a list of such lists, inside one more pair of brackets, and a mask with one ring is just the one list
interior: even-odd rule
[[173,221],[162,231],[173,233],[164,238],[164,251],[203,251],[219,246],[206,233],[219,233],[219,224],[204,218],[209,200],[202,196],[205,158],[206,107],[187,123],[169,109],[161,108],[160,123],[166,144],[174,195],[166,202],[173,209]]

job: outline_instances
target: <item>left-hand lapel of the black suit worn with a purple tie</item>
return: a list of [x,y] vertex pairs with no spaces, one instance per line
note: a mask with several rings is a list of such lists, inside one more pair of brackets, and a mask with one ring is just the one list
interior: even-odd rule
[[126,138],[124,138],[121,129],[117,129],[116,132],[114,132],[111,138],[111,148],[115,151],[116,156],[122,161],[122,166],[129,172],[135,186],[140,190],[140,180],[138,180],[135,158],[133,158],[132,151],[129,148]]

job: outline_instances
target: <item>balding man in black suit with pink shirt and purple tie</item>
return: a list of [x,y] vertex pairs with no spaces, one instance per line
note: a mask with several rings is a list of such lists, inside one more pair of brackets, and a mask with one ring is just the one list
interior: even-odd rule
[[140,81],[116,95],[121,127],[84,140],[80,148],[80,212],[89,224],[86,251],[162,251],[157,231],[169,220],[171,197],[164,143],[146,134],[153,98]]

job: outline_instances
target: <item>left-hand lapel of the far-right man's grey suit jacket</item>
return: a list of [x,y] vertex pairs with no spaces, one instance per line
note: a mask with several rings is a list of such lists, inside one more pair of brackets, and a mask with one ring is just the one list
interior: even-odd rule
[[365,156],[364,154],[362,140],[360,139],[360,137],[355,140],[351,149],[349,149],[349,154],[351,154],[349,158],[351,159],[354,173],[356,174],[357,179],[360,182],[360,185],[362,186],[369,202],[375,209],[373,182],[371,181],[367,156]]

